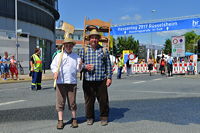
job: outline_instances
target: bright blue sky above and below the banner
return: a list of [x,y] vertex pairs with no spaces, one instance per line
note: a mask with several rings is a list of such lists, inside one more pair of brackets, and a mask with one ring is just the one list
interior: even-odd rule
[[[156,10],[152,13],[152,10]],[[60,20],[83,29],[84,17],[112,21],[112,24],[200,14],[200,0],[59,0]],[[167,38],[188,30],[152,33],[152,42],[164,44]],[[191,30],[189,30],[191,31]],[[197,31],[199,32],[199,31]],[[133,34],[141,43],[150,43],[150,33]]]

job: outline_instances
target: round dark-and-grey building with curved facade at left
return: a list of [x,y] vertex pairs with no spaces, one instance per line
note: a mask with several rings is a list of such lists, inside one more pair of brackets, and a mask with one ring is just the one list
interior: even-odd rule
[[55,21],[60,17],[57,9],[58,0],[0,0],[0,55],[7,51],[17,56],[26,73],[30,56],[37,47],[42,51],[44,69],[48,69],[55,49]]

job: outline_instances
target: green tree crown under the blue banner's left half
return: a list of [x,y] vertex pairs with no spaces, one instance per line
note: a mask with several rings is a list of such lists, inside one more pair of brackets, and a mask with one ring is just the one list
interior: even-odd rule
[[123,50],[132,50],[134,54],[138,54],[139,41],[132,36],[117,37],[113,49],[115,54],[122,53]]

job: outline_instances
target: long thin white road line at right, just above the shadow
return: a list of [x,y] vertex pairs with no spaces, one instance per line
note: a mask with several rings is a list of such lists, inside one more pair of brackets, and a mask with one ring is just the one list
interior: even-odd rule
[[139,93],[159,93],[159,94],[186,94],[186,95],[200,95],[200,93],[186,93],[186,92],[166,92],[166,91],[134,91]]

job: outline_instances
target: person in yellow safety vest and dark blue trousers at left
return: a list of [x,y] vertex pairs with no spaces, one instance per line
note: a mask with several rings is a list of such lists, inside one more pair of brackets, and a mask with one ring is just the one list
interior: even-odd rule
[[40,48],[35,48],[35,53],[31,56],[30,59],[32,73],[31,90],[41,90],[42,60],[40,59],[40,53]]

